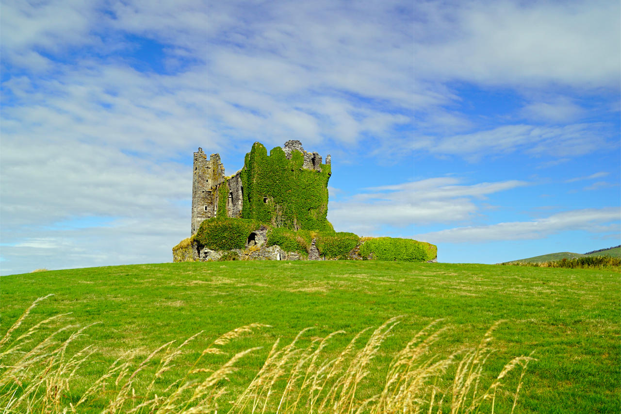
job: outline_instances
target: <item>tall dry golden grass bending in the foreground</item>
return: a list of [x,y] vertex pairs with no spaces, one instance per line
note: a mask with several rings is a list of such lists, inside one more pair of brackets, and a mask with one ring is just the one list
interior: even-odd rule
[[[301,344],[309,342],[304,340],[308,329],[285,346],[276,341],[245,390],[238,395],[225,394],[235,366],[258,348],[238,352],[213,370],[203,362],[209,356],[225,354],[223,347],[230,341],[267,327],[250,324],[215,339],[183,378],[173,380],[163,390],[163,375],[202,331],[178,346],[175,341],[163,344],[147,357],[138,357],[135,350],[125,352],[105,374],[80,391],[78,400],[71,400],[67,396],[78,388],[81,367],[94,347],[68,349],[73,349],[71,344],[90,325],[63,326],[34,341],[41,329],[66,315],[19,329],[45,298],[37,299],[0,339],[2,413],[78,413],[86,409],[92,412],[94,407],[104,407],[95,410],[102,413],[217,413],[222,412],[224,395],[229,413],[474,413],[481,407],[493,413],[501,392],[511,396],[510,409],[502,407],[502,412],[513,412],[528,362],[533,360],[532,356],[516,357],[489,379],[484,367],[493,352],[492,333],[498,323],[478,346],[442,358],[432,354],[433,345],[448,329],[438,328],[438,320],[397,352],[383,381],[369,379],[369,374],[378,369],[373,362],[381,346],[402,319],[397,317],[375,329],[365,344],[359,342],[368,335],[368,329],[356,334],[340,352],[328,352],[327,347],[335,336],[345,334],[343,331],[314,338],[304,346]],[[18,331],[24,333],[14,338]],[[515,390],[502,390],[507,375],[517,368],[521,373]],[[93,402],[94,407],[89,405]]]

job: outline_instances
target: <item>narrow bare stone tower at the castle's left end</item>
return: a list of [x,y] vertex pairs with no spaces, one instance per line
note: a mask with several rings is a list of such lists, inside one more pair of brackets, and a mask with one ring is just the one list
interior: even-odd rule
[[199,148],[194,152],[192,180],[192,232],[195,234],[203,220],[212,218],[217,211],[217,186],[224,182],[224,166],[220,155],[207,155]]

